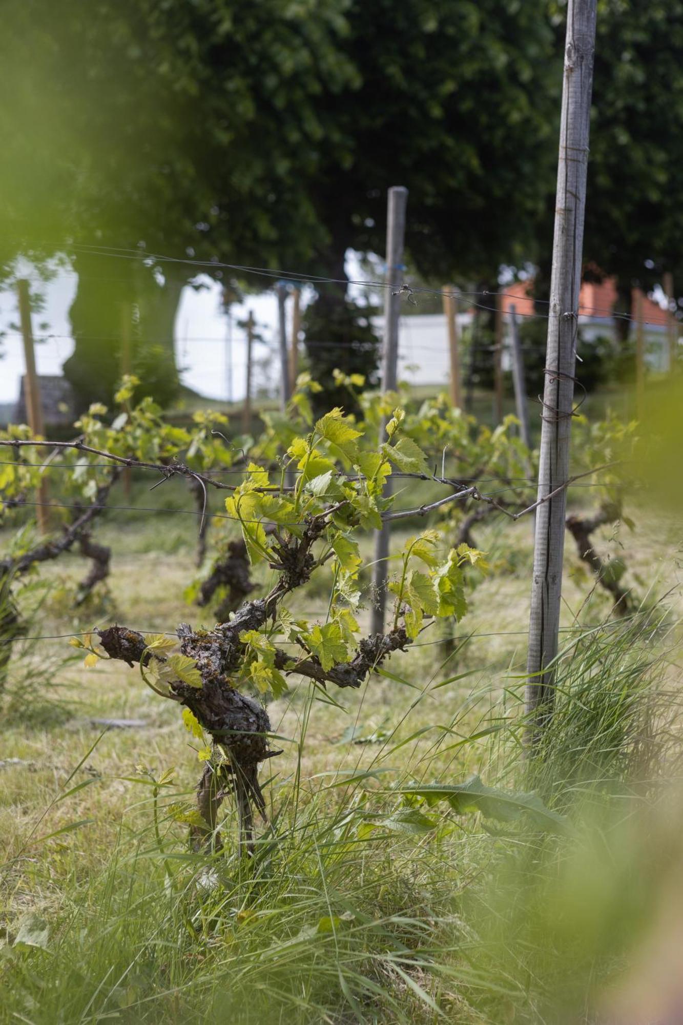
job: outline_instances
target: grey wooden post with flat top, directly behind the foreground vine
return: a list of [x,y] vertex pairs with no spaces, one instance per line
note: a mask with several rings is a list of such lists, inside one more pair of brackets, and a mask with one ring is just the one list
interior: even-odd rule
[[[405,236],[405,208],[408,190],[393,186],[387,201],[387,272],[385,290],[385,351],[381,366],[383,392],[395,392],[398,368],[399,317],[401,296],[396,294],[403,284],[403,239]],[[379,445],[385,441],[386,420],[379,423]],[[391,494],[391,477],[385,494]],[[374,536],[374,588],[375,605],[372,608],[372,632],[384,633],[387,606],[387,559],[389,558],[389,524]]]

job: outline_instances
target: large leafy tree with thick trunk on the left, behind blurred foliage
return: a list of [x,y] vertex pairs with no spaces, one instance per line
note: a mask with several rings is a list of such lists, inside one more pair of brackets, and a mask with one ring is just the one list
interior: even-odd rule
[[[121,303],[139,300],[140,343],[161,330],[168,347],[171,271],[183,268],[180,284],[198,273],[123,257],[274,266],[310,252],[322,233],[306,177],[324,136],[315,100],[351,74],[335,7],[27,0],[8,12],[3,66],[18,89],[0,109],[2,259],[74,258],[67,372],[81,406],[111,397]],[[155,289],[164,301],[150,299]]]

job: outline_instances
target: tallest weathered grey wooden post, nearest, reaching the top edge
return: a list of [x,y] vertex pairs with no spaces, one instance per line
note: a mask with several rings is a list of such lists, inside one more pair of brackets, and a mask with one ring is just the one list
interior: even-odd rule
[[[529,615],[526,711],[534,743],[554,705],[574,393],[597,0],[568,0],[555,236]],[[560,489],[557,491],[557,489]],[[557,491],[554,497],[548,496]],[[547,499],[547,500],[545,500]]]

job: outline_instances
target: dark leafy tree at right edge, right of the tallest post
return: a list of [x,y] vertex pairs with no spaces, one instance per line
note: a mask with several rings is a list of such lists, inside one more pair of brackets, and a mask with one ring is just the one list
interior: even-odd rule
[[[552,15],[558,6],[549,5]],[[588,277],[616,277],[616,309],[629,315],[634,285],[650,289],[667,271],[683,276],[682,47],[681,0],[599,3],[584,261]],[[549,192],[536,243],[544,297],[553,206]],[[629,321],[616,324],[626,340]]]

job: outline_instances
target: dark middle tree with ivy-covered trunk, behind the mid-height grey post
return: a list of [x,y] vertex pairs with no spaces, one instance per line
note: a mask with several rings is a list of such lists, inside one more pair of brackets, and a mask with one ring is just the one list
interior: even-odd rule
[[[535,253],[553,181],[561,51],[554,59],[550,22],[530,4],[498,0],[353,0],[346,17],[357,78],[322,100],[331,131],[312,184],[327,228],[316,265],[344,279],[350,246],[384,253],[387,190],[402,184],[406,258],[417,273],[495,282],[500,263]],[[338,286],[319,292],[328,309],[344,299]],[[324,350],[311,346],[309,359],[328,380]]]

